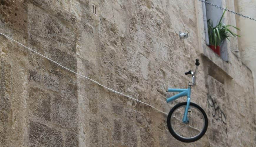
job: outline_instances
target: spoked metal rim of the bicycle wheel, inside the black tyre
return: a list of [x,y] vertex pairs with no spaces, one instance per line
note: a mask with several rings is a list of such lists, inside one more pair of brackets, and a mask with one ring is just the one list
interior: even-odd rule
[[174,110],[171,116],[170,125],[177,136],[184,139],[191,139],[199,136],[205,126],[205,117],[203,113],[195,106],[189,106],[189,123],[182,122],[186,105],[179,106]]

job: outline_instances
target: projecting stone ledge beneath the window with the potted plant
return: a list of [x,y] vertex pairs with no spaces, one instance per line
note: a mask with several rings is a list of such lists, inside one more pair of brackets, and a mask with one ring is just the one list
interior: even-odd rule
[[209,61],[211,61],[217,67],[219,67],[229,78],[233,79],[231,72],[230,72],[230,64],[228,62],[222,60],[220,56],[215,54],[205,44],[203,44],[202,47],[203,47],[203,51],[202,51],[201,55],[204,56],[205,58],[207,58]]

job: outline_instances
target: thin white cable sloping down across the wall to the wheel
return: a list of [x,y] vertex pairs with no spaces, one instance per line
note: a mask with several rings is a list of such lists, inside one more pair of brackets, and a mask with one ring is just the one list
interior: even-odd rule
[[32,49],[30,49],[30,48],[24,46],[23,44],[21,44],[21,43],[19,43],[18,41],[14,40],[14,39],[12,39],[12,38],[10,38],[10,37],[8,37],[8,36],[6,36],[6,35],[3,34],[3,33],[0,33],[0,34],[3,35],[3,36],[5,36],[5,37],[8,38],[8,39],[11,39],[12,41],[16,42],[17,44],[19,44],[19,45],[21,45],[21,46],[23,46],[23,47],[29,49],[30,51],[33,51],[34,53],[36,53],[36,54],[38,54],[38,55],[40,55],[40,56],[42,56],[42,57],[44,57],[44,58],[46,58],[46,59],[48,59],[48,60],[54,62],[55,64],[61,66],[62,68],[71,71],[71,72],[74,73],[74,74],[77,74],[77,75],[79,75],[79,76],[82,76],[82,77],[84,77],[84,78],[87,78],[88,80],[91,80],[91,81],[93,81],[94,83],[97,83],[98,85],[100,85],[100,86],[102,86],[102,87],[104,87],[104,88],[106,88],[106,89],[108,89],[108,90],[110,90],[110,91],[113,91],[114,93],[118,93],[118,94],[121,94],[121,95],[123,95],[123,96],[125,96],[125,97],[127,97],[127,98],[131,98],[131,99],[133,99],[133,100],[135,100],[135,101],[138,101],[138,102],[143,103],[143,104],[145,104],[145,105],[147,105],[147,106],[149,106],[149,107],[152,107],[152,108],[154,108],[155,110],[157,110],[157,111],[159,111],[159,112],[161,112],[161,113],[164,113],[164,114],[168,115],[167,113],[165,113],[165,112],[163,112],[163,111],[161,111],[161,110],[155,108],[154,106],[151,106],[151,105],[149,105],[149,104],[147,104],[147,103],[144,103],[144,102],[142,102],[142,101],[139,101],[139,100],[137,100],[137,99],[135,99],[135,98],[132,98],[131,96],[127,96],[127,95],[125,95],[125,94],[123,94],[123,93],[121,93],[121,92],[115,91],[115,90],[113,90],[113,89],[111,89],[111,88],[108,88],[108,87],[106,87],[106,86],[100,84],[100,83],[97,82],[97,81],[94,81],[93,79],[90,79],[90,78],[88,78],[88,77],[86,77],[86,76],[83,76],[83,75],[81,75],[81,74],[78,74],[77,72],[72,71],[72,70],[68,69],[68,68],[65,67],[65,66],[62,66],[61,64],[57,63],[56,61],[53,61],[52,59],[50,59],[50,58],[48,58],[48,57],[46,57],[46,56],[44,56],[44,55],[42,55],[42,54],[40,54],[40,53],[38,53],[38,52],[32,50]]

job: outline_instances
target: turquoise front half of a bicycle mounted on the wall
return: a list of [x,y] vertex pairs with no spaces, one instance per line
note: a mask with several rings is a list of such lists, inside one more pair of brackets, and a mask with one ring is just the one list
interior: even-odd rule
[[[182,142],[194,142],[204,136],[208,127],[208,118],[205,111],[195,103],[190,102],[191,86],[196,85],[197,68],[199,60],[196,59],[195,72],[188,71],[185,75],[192,75],[192,83],[187,89],[168,88],[167,92],[179,92],[167,98],[167,103],[182,96],[187,96],[187,102],[178,103],[169,112],[167,126],[174,138]],[[182,115],[183,114],[183,115]]]

